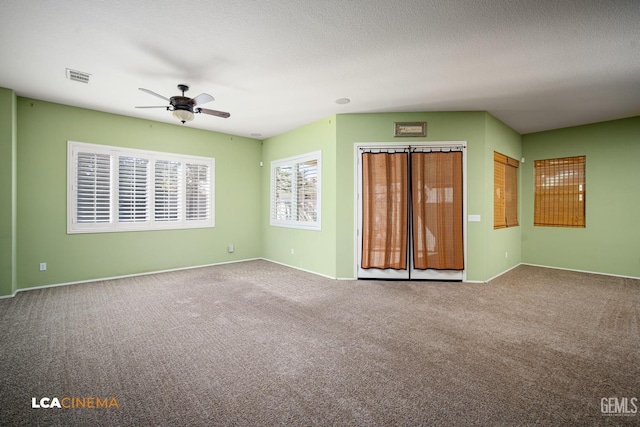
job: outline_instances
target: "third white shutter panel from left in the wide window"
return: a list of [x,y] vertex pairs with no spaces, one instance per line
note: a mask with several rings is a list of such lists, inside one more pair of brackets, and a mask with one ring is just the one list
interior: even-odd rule
[[156,160],[155,162],[155,215],[156,221],[180,219],[180,162]]

